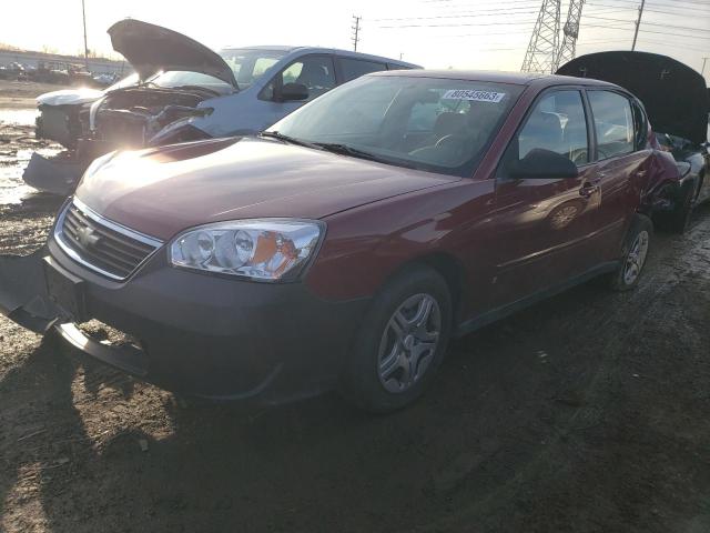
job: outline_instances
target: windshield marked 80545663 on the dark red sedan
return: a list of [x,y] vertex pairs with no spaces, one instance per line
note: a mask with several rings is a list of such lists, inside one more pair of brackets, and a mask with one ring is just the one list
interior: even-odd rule
[[521,91],[486,81],[368,76],[314,100],[270,131],[347,155],[465,177]]

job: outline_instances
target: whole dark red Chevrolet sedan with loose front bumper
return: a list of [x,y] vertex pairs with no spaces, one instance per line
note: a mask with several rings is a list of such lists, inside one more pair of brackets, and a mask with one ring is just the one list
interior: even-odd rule
[[610,83],[366,76],[260,137],[97,160],[47,248],[1,261],[0,308],[183,393],[395,410],[452,336],[592,276],[636,285],[674,179],[652,142]]

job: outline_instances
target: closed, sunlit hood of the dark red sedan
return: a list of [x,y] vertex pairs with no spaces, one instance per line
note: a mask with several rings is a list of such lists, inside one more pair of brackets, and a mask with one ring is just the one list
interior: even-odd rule
[[261,138],[216,139],[109,158],[99,170],[87,171],[77,198],[113,222],[163,240],[225,220],[322,219],[460,180]]

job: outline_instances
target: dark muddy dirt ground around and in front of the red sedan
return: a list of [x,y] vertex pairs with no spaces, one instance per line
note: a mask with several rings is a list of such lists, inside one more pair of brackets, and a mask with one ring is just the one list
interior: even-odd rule
[[[2,132],[0,132],[2,134]],[[0,207],[0,251],[58,202]],[[0,318],[0,531],[710,531],[710,209],[640,286],[453,346],[412,409],[189,406]]]

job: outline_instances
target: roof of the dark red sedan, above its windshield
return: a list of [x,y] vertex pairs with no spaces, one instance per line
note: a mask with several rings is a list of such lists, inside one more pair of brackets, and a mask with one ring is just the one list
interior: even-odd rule
[[540,74],[531,72],[501,72],[487,70],[408,70],[374,72],[368,76],[407,76],[417,78],[440,78],[448,80],[466,81],[491,81],[495,83],[510,83],[516,86],[529,86],[531,83],[541,86],[605,86],[616,87],[606,81],[592,80],[588,78],[574,78],[570,76]]

